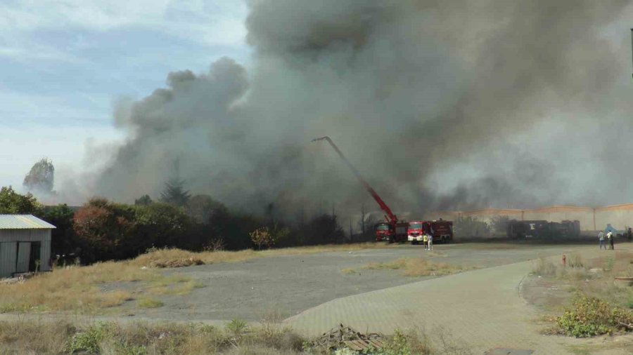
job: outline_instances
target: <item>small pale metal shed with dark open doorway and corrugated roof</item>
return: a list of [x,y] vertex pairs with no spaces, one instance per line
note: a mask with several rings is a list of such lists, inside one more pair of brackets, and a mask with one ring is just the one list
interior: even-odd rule
[[0,277],[50,271],[53,228],[34,215],[0,215]]

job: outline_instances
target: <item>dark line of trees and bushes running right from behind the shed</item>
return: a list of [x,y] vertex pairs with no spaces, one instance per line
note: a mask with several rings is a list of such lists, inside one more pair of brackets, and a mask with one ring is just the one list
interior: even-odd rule
[[32,214],[56,226],[52,255],[72,253],[82,264],[136,257],[152,247],[242,250],[345,241],[336,215],[295,223],[262,217],[231,210],[209,195],[191,196],[177,180],[167,182],[159,201],[148,195],[134,204],[93,198],[79,208],[43,206],[30,193],[2,187],[0,213]]

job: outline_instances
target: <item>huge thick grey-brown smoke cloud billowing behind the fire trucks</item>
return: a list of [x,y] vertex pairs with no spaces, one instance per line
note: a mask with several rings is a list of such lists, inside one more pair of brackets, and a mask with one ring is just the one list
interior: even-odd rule
[[309,143],[329,135],[394,210],[633,202],[630,3],[250,1],[248,72],[224,58],[119,102],[96,192],[178,175],[255,213],[373,208]]

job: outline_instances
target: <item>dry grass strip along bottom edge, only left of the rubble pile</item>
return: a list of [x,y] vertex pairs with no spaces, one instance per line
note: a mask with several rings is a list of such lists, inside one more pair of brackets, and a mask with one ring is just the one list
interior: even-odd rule
[[[33,335],[37,334],[37,337]],[[281,326],[234,333],[203,324],[0,323],[1,354],[302,354],[305,341]]]

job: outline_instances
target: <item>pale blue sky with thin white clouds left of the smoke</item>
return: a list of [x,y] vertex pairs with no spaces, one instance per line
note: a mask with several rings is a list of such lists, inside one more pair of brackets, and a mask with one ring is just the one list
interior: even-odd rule
[[142,98],[171,71],[205,72],[224,55],[248,65],[247,11],[239,0],[0,1],[0,185],[21,188],[44,156],[57,180],[81,171],[87,147],[123,138],[113,100]]

